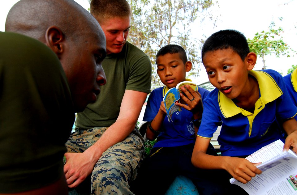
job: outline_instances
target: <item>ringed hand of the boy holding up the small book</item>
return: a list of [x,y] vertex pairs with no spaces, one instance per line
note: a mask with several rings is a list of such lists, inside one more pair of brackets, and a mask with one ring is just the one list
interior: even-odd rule
[[180,104],[175,103],[176,105],[187,109],[193,113],[195,118],[201,118],[202,111],[203,111],[203,104],[201,100],[201,94],[198,91],[194,91],[190,85],[186,85],[186,88],[182,87],[182,91],[185,95],[180,94],[180,97],[187,103],[187,104]]

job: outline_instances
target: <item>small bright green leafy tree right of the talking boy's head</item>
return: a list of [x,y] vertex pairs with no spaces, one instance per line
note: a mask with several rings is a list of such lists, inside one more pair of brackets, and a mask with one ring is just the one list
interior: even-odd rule
[[276,57],[280,55],[290,57],[290,51],[293,51],[288,44],[282,40],[283,29],[279,27],[274,28],[275,25],[272,22],[269,27],[269,31],[257,32],[253,39],[248,39],[248,45],[251,52],[256,53],[263,60],[263,69],[265,67],[265,55],[274,54]]

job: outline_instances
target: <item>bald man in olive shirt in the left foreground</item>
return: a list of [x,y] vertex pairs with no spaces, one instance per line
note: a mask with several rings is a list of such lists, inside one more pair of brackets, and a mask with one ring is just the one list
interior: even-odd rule
[[106,83],[105,35],[72,0],[21,0],[8,13],[5,30],[0,33],[0,194],[68,194],[64,143],[74,113],[95,102]]

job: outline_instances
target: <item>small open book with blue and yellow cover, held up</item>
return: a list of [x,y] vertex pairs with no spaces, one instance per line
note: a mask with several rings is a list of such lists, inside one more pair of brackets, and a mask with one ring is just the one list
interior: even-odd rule
[[183,81],[183,82],[180,82],[179,84],[177,84],[176,87],[170,88],[167,91],[167,93],[164,95],[163,102],[165,105],[165,109],[166,109],[166,113],[167,113],[169,122],[172,121],[171,117],[174,112],[179,112],[182,110],[182,108],[175,105],[175,103],[179,102],[181,104],[185,104],[185,102],[183,100],[180,100],[180,96],[179,96],[180,93],[183,93],[181,88],[184,87],[185,85],[190,85],[194,91],[198,90],[196,83],[193,83],[191,81]]

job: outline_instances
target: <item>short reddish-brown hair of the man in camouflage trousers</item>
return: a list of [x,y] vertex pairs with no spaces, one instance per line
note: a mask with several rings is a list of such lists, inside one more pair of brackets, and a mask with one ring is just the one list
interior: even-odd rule
[[131,16],[131,7],[126,0],[92,0],[90,12],[99,20],[109,17],[122,18]]

